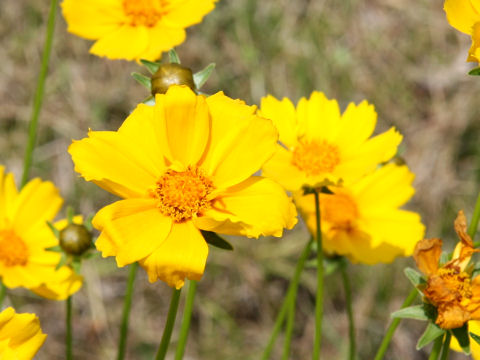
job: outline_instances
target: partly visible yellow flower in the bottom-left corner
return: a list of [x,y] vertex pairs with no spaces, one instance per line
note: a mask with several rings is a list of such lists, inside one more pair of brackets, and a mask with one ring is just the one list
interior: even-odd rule
[[13,308],[0,313],[0,359],[33,359],[46,337],[35,314],[16,314]]

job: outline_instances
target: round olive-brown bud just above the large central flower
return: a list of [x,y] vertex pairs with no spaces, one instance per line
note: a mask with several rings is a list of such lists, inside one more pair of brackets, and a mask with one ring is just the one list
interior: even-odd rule
[[195,91],[192,70],[180,64],[162,64],[152,76],[152,95],[165,94],[171,85],[187,85]]

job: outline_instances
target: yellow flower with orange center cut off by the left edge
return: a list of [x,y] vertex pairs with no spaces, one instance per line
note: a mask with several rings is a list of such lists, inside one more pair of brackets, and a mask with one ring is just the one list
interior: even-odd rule
[[0,278],[9,288],[25,287],[63,300],[76,292],[81,277],[68,267],[56,270],[60,253],[48,251],[58,240],[47,225],[62,205],[55,186],[34,179],[21,192],[0,166]]

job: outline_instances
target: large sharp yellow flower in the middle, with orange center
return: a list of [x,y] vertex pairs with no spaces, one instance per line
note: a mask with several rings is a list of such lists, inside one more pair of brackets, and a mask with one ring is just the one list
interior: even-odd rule
[[151,282],[180,288],[203,274],[208,246],[200,230],[281,236],[296,210],[280,185],[252,176],[278,138],[256,107],[184,86],[155,102],[138,105],[116,132],[90,131],[69,152],[86,180],[125,199],[93,219],[103,256],[118,266],[139,261]]

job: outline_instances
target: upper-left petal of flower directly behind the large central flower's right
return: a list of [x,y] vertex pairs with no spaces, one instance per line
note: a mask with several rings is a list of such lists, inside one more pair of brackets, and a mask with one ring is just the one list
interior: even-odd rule
[[280,101],[272,95],[262,98],[259,115],[273,121],[284,145],[292,148],[297,144],[297,115],[289,99]]

